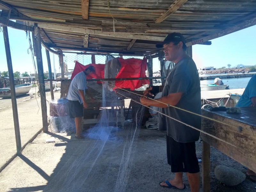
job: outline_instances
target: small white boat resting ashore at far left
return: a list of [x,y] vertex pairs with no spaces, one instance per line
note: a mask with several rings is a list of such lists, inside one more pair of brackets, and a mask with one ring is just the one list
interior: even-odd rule
[[[32,86],[33,84],[31,83],[15,85],[16,96],[27,94]],[[10,87],[0,88],[0,97],[11,97],[11,88]]]

